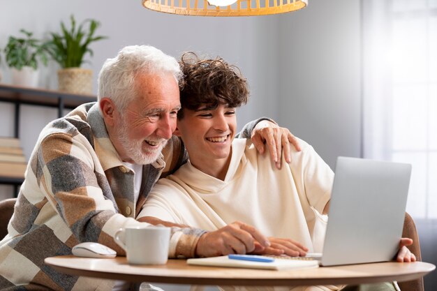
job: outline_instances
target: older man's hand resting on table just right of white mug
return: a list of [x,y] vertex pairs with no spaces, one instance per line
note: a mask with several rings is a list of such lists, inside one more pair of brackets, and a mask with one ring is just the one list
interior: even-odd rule
[[198,257],[215,257],[230,253],[245,254],[269,246],[269,240],[255,227],[236,221],[200,237],[195,248]]

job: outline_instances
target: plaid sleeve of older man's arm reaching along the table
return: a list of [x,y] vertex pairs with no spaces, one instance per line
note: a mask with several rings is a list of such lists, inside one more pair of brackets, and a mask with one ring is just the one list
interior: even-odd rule
[[[77,241],[96,241],[124,255],[114,242],[115,232],[119,228],[142,223],[118,214],[114,202],[106,199],[101,188],[105,182],[102,178],[98,180],[96,172],[101,177],[105,174],[101,167],[99,170],[99,165],[95,163],[97,157],[90,148],[87,140],[80,135],[71,138],[64,133],[55,133],[46,137],[38,150],[35,166],[43,169],[35,169],[36,180],[40,181],[40,188],[50,189],[45,196],[55,203],[56,211]],[[68,231],[63,230],[62,233]],[[202,230],[173,227],[171,239],[180,241],[174,249],[175,257],[193,256],[194,248],[187,246],[197,244],[203,233]]]

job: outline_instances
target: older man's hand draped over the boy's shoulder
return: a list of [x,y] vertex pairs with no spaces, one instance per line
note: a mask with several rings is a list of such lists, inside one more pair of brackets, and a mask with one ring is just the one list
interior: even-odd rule
[[278,169],[281,169],[281,154],[283,150],[287,163],[291,161],[291,147],[300,151],[297,138],[288,128],[279,127],[272,121],[263,120],[253,128],[251,140],[260,154],[265,152],[265,144],[269,148],[270,158]]

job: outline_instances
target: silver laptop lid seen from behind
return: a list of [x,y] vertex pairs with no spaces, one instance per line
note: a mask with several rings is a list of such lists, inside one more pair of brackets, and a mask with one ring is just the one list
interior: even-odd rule
[[392,260],[399,248],[411,165],[339,157],[321,264]]

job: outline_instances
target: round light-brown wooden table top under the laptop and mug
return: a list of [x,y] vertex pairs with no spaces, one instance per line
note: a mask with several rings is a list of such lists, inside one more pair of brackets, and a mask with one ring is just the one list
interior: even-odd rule
[[197,285],[327,285],[389,281],[411,281],[434,271],[427,262],[378,262],[316,269],[283,271],[202,267],[186,260],[168,260],[164,265],[128,264],[125,257],[112,259],[77,258],[62,255],[46,258],[57,271],[75,276],[90,276],[131,282]]

